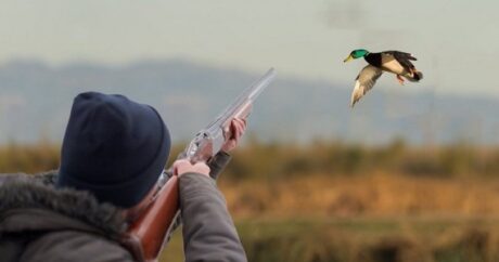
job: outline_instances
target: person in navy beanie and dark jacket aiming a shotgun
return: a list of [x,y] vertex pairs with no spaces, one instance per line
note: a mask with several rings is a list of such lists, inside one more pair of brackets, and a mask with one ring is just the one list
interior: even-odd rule
[[[246,261],[210,176],[229,161],[246,122],[235,117],[228,127],[231,136],[207,162],[187,158],[172,166],[185,261]],[[169,131],[153,107],[123,95],[77,95],[60,169],[0,176],[2,261],[141,261],[123,239],[153,206],[169,150]]]

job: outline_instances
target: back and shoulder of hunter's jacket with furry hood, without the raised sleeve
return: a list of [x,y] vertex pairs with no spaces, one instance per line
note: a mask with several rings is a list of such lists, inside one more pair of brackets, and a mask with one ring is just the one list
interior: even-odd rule
[[86,192],[55,189],[50,185],[54,175],[2,179],[2,261],[133,261],[117,245],[126,230],[120,210]]

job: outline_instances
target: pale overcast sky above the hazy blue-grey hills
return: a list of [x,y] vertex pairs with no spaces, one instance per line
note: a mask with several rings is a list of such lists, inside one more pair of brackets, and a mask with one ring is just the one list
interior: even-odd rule
[[[410,90],[499,97],[499,1],[0,0],[0,63],[184,58],[353,84],[356,48],[413,53]],[[396,87],[395,77],[383,84]],[[348,87],[349,88],[349,87]],[[398,87],[397,87],[398,88]],[[404,92],[404,91],[401,91]]]

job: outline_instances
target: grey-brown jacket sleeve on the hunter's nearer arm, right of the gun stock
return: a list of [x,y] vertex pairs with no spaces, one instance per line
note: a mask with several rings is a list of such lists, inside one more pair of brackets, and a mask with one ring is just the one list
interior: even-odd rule
[[215,180],[185,173],[180,176],[179,186],[185,261],[246,261]]

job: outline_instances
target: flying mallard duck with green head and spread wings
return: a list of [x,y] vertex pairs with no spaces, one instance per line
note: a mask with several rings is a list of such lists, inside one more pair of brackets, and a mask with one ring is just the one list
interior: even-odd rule
[[357,49],[343,62],[363,57],[369,65],[360,70],[355,79],[354,92],[351,92],[350,106],[353,107],[369,90],[376,83],[378,78],[383,71],[389,71],[396,75],[400,84],[404,84],[404,78],[411,82],[418,82],[423,79],[423,74],[415,69],[411,61],[417,61],[410,53],[400,51],[384,51],[380,53],[371,53],[364,49]]

